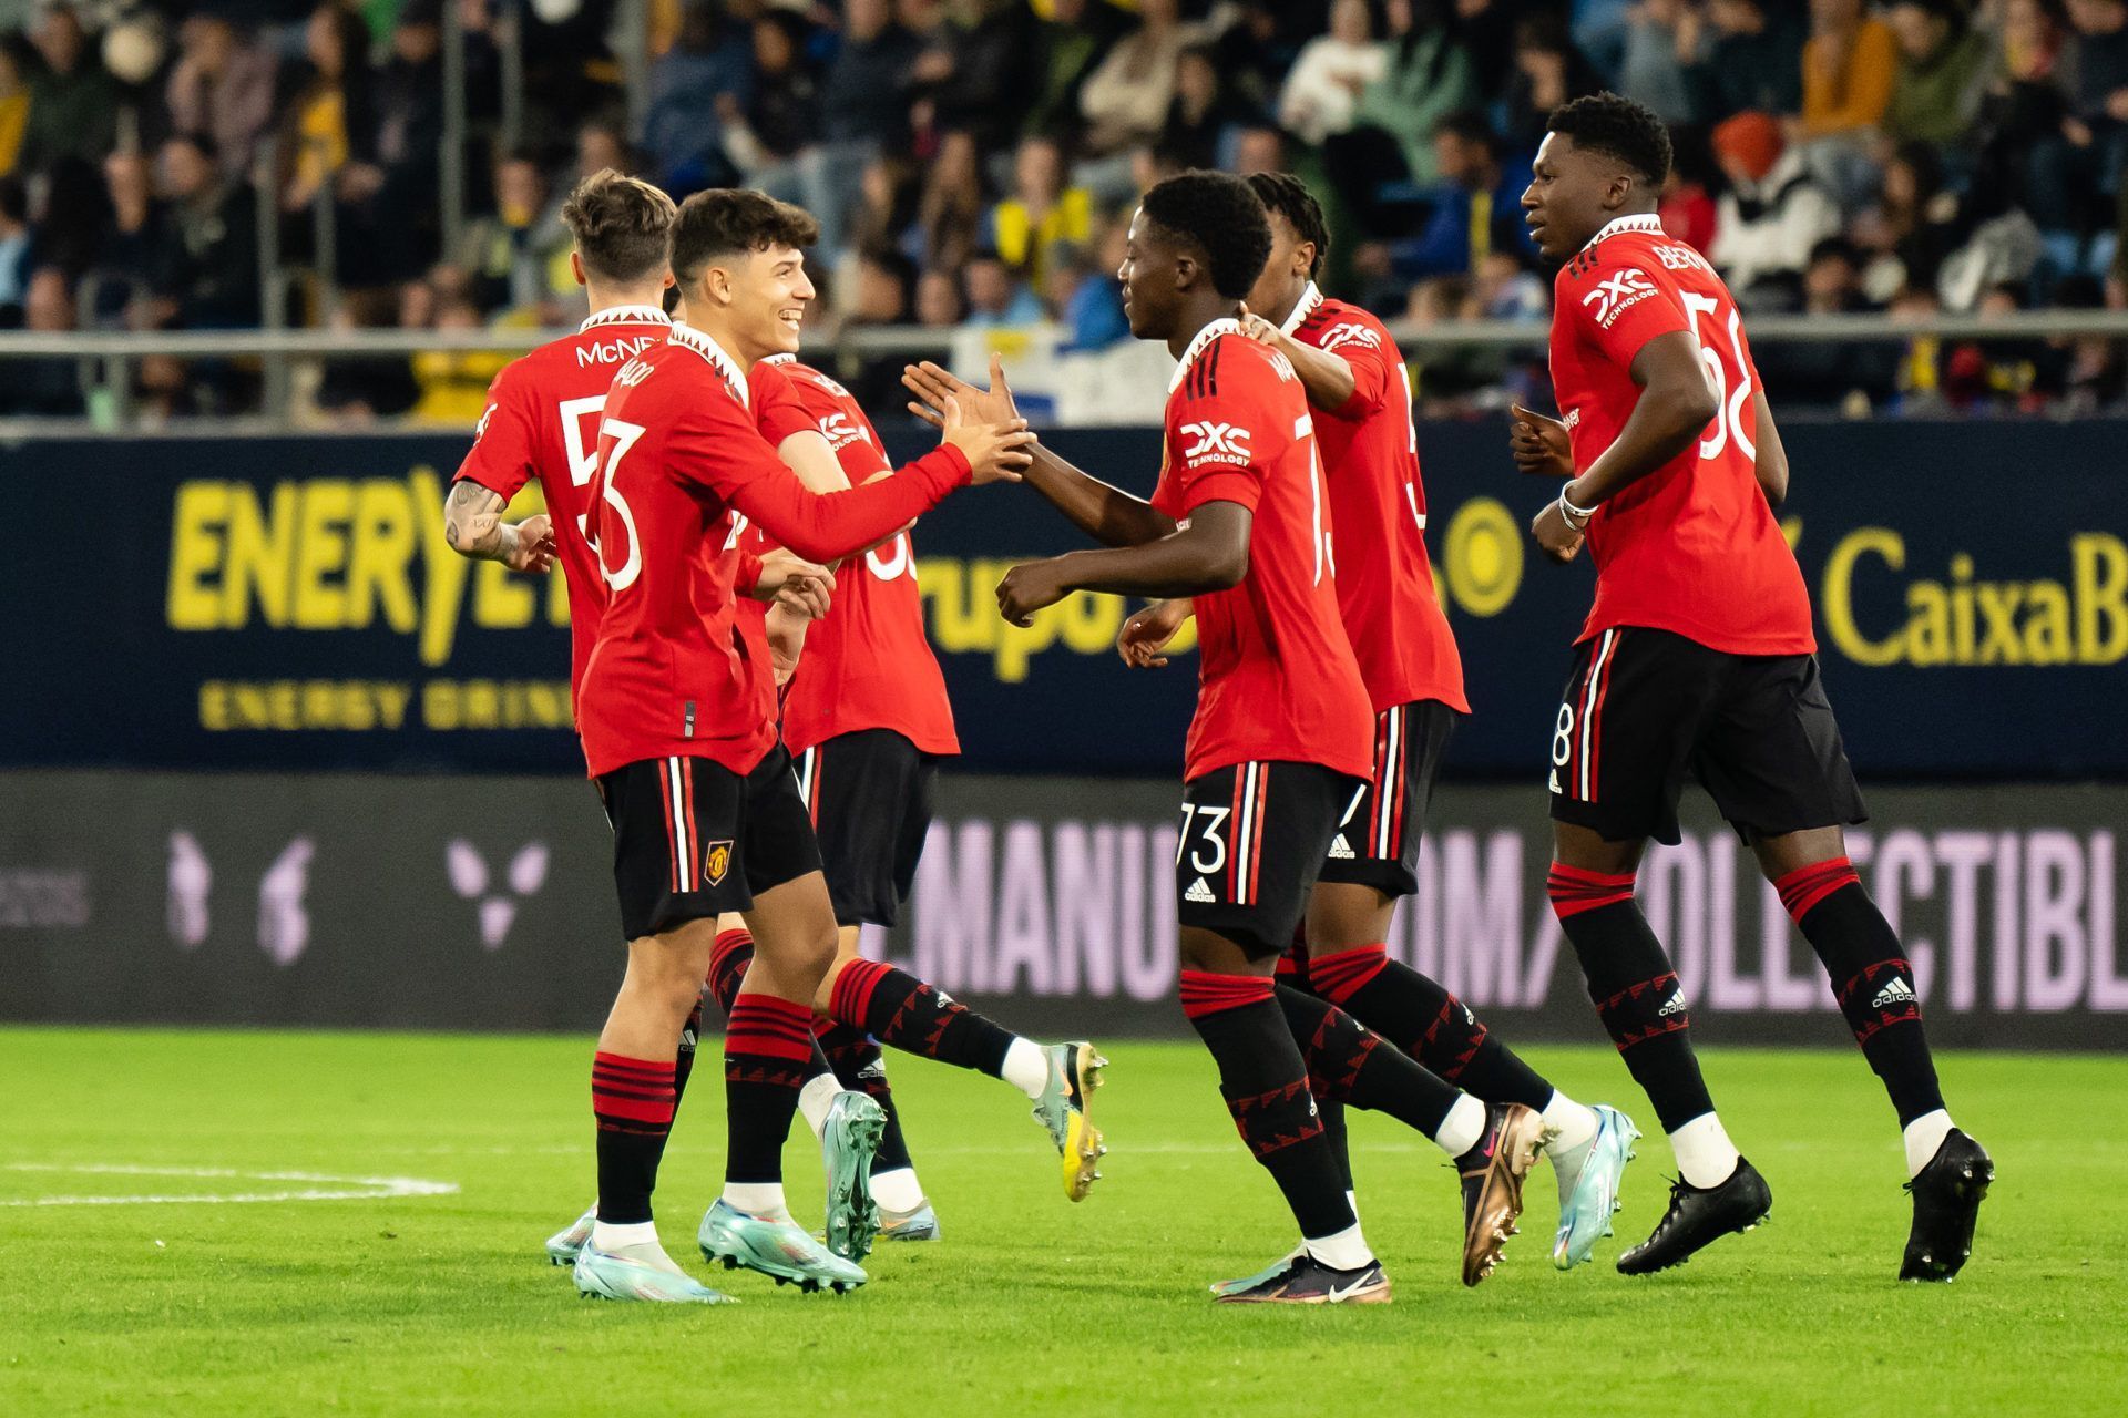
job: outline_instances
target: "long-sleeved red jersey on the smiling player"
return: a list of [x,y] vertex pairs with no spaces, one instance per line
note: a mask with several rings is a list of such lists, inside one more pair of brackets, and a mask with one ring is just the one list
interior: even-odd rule
[[592,483],[606,583],[577,702],[592,776],[662,757],[745,774],[775,744],[775,676],[732,610],[732,512],[811,561],[832,561],[964,483],[968,459],[943,446],[900,476],[815,495],[768,444],[747,376],[715,340],[675,325],[621,366]]

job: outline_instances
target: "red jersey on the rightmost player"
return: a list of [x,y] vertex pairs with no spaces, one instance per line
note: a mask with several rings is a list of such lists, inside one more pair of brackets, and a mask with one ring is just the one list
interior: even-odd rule
[[1553,291],[1551,387],[1585,472],[1641,400],[1632,359],[1683,330],[1719,408],[1700,440],[1596,508],[1587,527],[1596,606],[1581,640],[1645,625],[1730,655],[1809,655],[1811,595],[1758,487],[1758,366],[1713,266],[1656,217],[1619,217]]

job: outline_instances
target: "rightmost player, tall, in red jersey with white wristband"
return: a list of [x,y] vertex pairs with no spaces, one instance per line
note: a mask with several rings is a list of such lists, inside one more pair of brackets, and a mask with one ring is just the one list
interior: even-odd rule
[[1551,740],[1551,904],[1681,1174],[1617,1267],[1677,1265],[1773,1203],[1715,1116],[1677,972],[1632,901],[1647,838],[1679,840],[1690,770],[1758,855],[1892,1095],[1913,1193],[1900,1280],[1949,1280],[1994,1165],[1945,1112],[1913,969],[1847,861],[1841,827],[1864,821],[1862,795],[1773,517],[1788,455],[1734,298],[1656,219],[1668,172],[1662,121],[1598,94],[1553,111],[1522,196],[1539,249],[1562,261],[1564,423],[1517,408],[1511,446],[1524,472],[1568,478],[1536,514],[1539,546],[1570,561],[1587,542],[1596,559]]

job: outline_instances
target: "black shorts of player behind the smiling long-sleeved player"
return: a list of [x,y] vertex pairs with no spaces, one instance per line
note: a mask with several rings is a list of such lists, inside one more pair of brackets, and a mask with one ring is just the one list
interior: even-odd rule
[[894,925],[932,818],[938,757],[894,729],[858,729],[798,755],[836,925]]

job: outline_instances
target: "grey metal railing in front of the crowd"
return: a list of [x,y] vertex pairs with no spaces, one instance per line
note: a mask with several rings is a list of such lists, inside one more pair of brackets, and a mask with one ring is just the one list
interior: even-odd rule
[[[1547,321],[1443,321],[1390,323],[1404,351],[1492,349],[1541,357],[1549,338]],[[294,372],[328,359],[394,359],[417,353],[502,353],[517,355],[555,340],[570,330],[177,330],[177,332],[6,332],[0,334],[0,381],[13,361],[72,361],[92,415],[81,419],[38,419],[34,432],[128,432],[134,427],[130,393],[143,359],[219,359],[257,368],[264,406],[260,415],[213,421],[215,429],[285,429],[296,419]],[[807,338],[807,357],[834,368],[836,361],[894,357],[938,357],[958,330],[924,325],[832,325]],[[1883,315],[1796,317],[1764,315],[1749,325],[1756,347],[1819,344],[1905,344],[1909,340],[2030,342],[2047,338],[2100,336],[2128,340],[2128,310],[2022,310],[2015,315],[1932,315],[1894,319]],[[0,419],[0,429],[23,432],[26,421]],[[172,421],[168,427],[209,427],[209,421]]]

